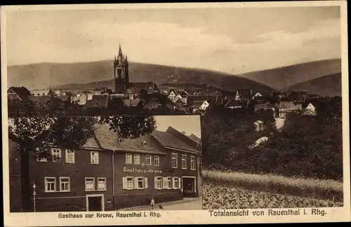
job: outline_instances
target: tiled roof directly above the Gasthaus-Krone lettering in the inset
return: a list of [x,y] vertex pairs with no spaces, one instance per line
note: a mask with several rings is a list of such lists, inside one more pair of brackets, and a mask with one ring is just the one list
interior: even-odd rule
[[160,151],[159,146],[157,146],[157,142],[154,141],[151,135],[144,135],[136,139],[123,139],[122,142],[119,142],[117,133],[110,130],[109,125],[97,124],[95,136],[98,139],[102,149],[164,154],[164,152]]

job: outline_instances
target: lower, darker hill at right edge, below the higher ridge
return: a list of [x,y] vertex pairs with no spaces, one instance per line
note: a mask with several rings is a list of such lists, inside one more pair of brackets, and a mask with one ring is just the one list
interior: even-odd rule
[[285,91],[308,90],[310,94],[319,94],[322,96],[341,96],[341,73],[331,74],[314,78],[309,81],[296,83],[284,88]]

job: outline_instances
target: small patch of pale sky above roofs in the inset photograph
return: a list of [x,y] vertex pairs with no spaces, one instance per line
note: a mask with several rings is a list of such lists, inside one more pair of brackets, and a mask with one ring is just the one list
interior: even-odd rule
[[185,132],[185,135],[196,135],[201,138],[200,116],[155,116],[157,129],[166,132],[169,126],[179,132]]

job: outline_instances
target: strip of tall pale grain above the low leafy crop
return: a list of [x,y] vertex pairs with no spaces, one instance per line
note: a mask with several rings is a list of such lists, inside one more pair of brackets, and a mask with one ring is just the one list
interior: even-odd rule
[[[331,179],[303,179],[273,174],[201,171],[204,182],[253,191],[303,196],[320,200],[343,201],[343,182]],[[205,192],[205,191],[204,191]],[[204,196],[206,197],[206,196]]]

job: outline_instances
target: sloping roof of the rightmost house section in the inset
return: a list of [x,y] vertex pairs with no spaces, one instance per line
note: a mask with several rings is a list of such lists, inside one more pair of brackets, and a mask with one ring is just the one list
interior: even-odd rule
[[174,133],[169,130],[167,132],[154,130],[154,132],[152,132],[152,135],[156,139],[158,139],[159,142],[161,142],[161,144],[163,144],[164,146],[168,146],[173,149],[182,149],[185,151],[199,152],[197,149],[194,148],[194,146],[192,146],[190,142],[187,143],[179,137],[176,137]]

